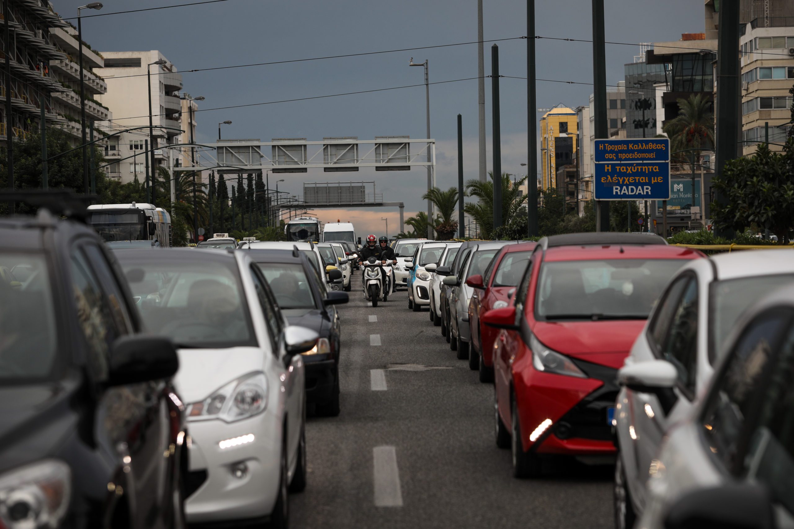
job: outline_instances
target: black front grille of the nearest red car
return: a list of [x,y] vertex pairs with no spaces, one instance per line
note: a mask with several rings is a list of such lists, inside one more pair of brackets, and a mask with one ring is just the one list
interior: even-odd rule
[[615,406],[615,399],[618,397],[618,370],[576,358],[571,358],[571,360],[589,378],[603,381],[603,385],[584,397],[582,401],[557,420],[557,424],[553,427],[554,435],[559,439],[577,437],[611,441],[612,430],[611,425],[607,424],[607,408]]

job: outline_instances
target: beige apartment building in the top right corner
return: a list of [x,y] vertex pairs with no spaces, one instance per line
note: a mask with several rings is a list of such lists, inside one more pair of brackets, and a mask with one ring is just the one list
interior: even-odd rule
[[[743,25],[739,37],[742,48],[742,153],[753,154],[765,141],[769,124],[769,143],[784,144],[791,127],[794,83],[794,18],[755,19]],[[769,145],[773,151],[782,149]]]

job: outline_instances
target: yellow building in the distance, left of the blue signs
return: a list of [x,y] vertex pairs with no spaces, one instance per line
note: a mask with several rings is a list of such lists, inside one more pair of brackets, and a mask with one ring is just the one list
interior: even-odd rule
[[572,109],[560,106],[541,118],[542,189],[557,187],[559,168],[576,163],[578,132],[576,112]]

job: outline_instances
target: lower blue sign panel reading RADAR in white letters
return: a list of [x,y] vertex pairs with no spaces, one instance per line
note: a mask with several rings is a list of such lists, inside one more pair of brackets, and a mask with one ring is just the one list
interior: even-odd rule
[[595,163],[595,200],[668,200],[670,164]]

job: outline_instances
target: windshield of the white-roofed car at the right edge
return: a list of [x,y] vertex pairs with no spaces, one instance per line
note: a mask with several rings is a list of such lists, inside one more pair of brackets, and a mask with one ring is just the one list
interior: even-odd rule
[[[714,363],[723,351],[725,339],[734,328],[742,312],[766,294],[784,283],[791,282],[794,274],[757,275],[750,278],[727,279],[711,285],[711,343],[709,358]],[[741,302],[738,302],[741,300]]]

